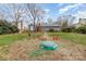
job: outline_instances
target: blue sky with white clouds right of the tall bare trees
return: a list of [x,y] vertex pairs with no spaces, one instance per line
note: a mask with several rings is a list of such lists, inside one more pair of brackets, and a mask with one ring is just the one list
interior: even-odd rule
[[78,20],[79,17],[86,18],[86,4],[85,3],[51,3],[42,4],[42,8],[49,13],[47,17],[57,20],[60,15],[73,15]]

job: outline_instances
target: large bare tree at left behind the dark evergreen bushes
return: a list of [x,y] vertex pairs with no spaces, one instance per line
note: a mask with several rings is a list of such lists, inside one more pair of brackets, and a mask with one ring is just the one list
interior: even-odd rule
[[[0,18],[9,20],[13,25],[20,27],[20,31],[23,30],[23,21],[25,18],[24,4],[11,3],[11,4],[0,4],[3,8],[0,9]],[[4,17],[2,17],[2,14]],[[20,26],[19,26],[20,24]]]

